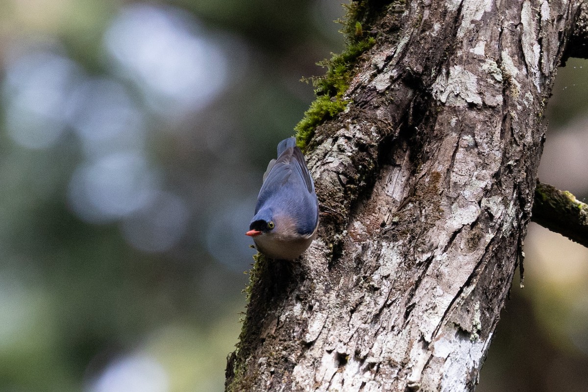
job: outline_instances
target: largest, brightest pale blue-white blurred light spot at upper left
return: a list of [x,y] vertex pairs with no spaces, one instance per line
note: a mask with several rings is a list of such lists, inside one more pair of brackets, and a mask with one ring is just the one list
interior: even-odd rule
[[123,73],[161,115],[201,108],[226,85],[225,53],[179,9],[131,5],[115,19],[105,41]]

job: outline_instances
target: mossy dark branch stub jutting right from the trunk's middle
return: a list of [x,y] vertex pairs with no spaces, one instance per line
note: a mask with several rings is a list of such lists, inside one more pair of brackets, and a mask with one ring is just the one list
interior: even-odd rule
[[537,181],[531,220],[588,247],[588,205],[572,193]]

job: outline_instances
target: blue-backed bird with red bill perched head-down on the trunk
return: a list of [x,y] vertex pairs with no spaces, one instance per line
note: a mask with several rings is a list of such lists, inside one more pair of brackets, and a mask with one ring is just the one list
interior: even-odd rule
[[296,138],[278,144],[278,158],[263,174],[255,215],[245,234],[270,259],[295,260],[316,236],[319,202]]

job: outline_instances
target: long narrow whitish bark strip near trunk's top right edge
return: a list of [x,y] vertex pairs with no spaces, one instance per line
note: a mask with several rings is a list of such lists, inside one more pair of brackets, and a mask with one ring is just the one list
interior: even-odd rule
[[524,61],[527,69],[531,74],[534,85],[540,90],[539,79],[539,59],[541,56],[541,47],[537,42],[539,25],[537,24],[537,12],[532,8],[531,2],[523,2],[523,9],[520,12],[521,23],[523,24],[523,34],[521,45],[523,48]]

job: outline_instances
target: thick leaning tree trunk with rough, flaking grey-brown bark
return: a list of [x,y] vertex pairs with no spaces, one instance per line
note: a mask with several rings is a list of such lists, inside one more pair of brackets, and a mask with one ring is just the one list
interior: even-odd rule
[[542,113],[579,3],[373,7],[377,41],[352,103],[308,148],[319,238],[293,264],[258,260],[228,390],[477,383],[523,254]]

